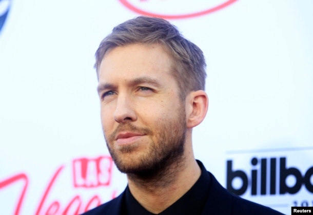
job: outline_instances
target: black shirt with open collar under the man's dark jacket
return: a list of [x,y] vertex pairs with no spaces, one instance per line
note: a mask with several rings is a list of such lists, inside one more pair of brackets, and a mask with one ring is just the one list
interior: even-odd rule
[[[200,161],[197,161],[201,168],[200,178],[195,184],[171,206],[163,210],[160,215],[172,214],[201,214],[206,203],[207,195],[210,188],[210,175]],[[128,186],[126,187],[124,208],[127,215],[151,215],[137,200],[132,196]]]

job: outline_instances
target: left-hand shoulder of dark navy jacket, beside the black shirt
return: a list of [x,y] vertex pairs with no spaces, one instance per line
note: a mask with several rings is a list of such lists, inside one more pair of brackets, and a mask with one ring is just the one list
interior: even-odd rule
[[97,206],[82,215],[102,215],[102,214],[122,214],[122,204],[124,200],[125,191],[115,199],[110,200],[100,206]]

